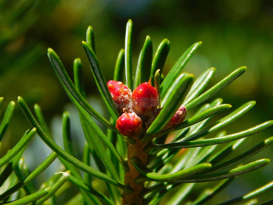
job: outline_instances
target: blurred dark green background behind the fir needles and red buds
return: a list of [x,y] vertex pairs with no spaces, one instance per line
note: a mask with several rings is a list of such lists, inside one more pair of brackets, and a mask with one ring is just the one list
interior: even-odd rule
[[[48,47],[57,52],[71,77],[73,60],[82,59],[87,93],[100,104],[81,41],[85,40],[86,29],[91,25],[97,57],[108,81],[112,79],[117,54],[124,48],[128,19],[133,20],[134,26],[134,67],[146,35],[151,36],[154,51],[164,38],[171,42],[165,74],[189,46],[202,41],[184,70],[198,76],[205,69],[216,67],[210,86],[240,66],[248,68],[244,75],[213,97],[222,97],[224,103],[233,105],[232,110],[247,101],[257,101],[246,116],[230,124],[227,130],[237,132],[273,119],[273,2],[270,0],[2,0],[0,96],[4,97],[4,103],[1,119],[7,104],[20,95],[30,107],[38,103],[53,132],[58,133],[54,131],[60,128],[56,126],[56,119],[64,106],[70,105],[47,58]],[[30,128],[19,106],[16,109],[2,141],[1,156]],[[251,137],[238,153],[269,136],[273,136],[272,128]],[[273,159],[272,150],[271,146],[252,159]],[[238,177],[214,202],[247,193],[272,180],[272,170],[270,163],[254,174]],[[259,181],[255,181],[256,175],[260,175]],[[250,178],[253,180],[247,181]]]

